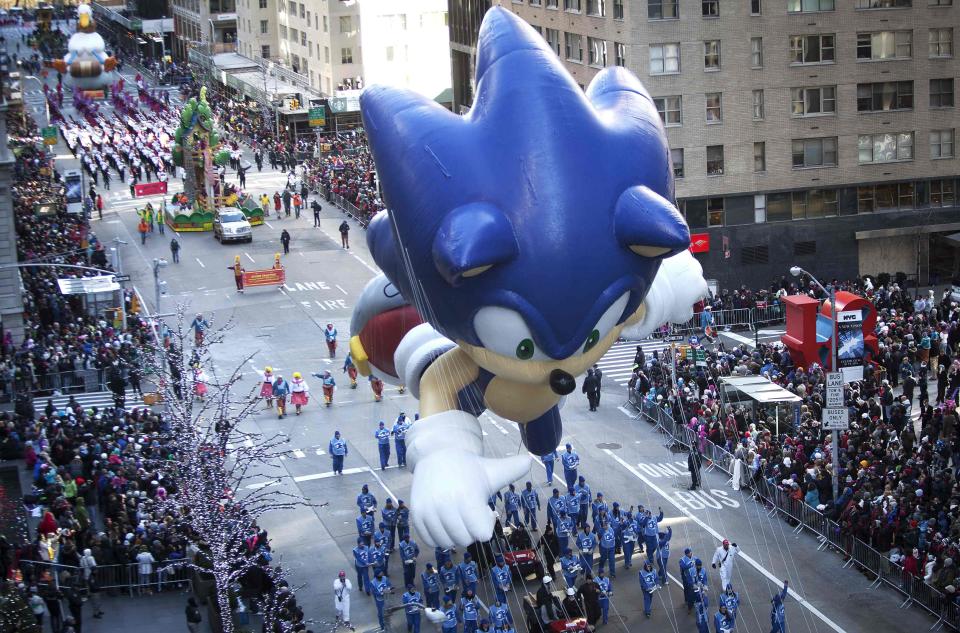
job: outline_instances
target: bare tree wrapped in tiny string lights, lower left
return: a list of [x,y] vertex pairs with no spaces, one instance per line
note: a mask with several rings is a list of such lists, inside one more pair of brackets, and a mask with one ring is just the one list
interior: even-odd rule
[[[241,582],[251,578],[269,581],[259,583],[267,592],[262,596],[267,606],[288,600],[277,582],[282,576],[270,566],[263,549],[266,544],[259,542],[260,518],[269,512],[311,505],[277,486],[287,437],[264,436],[242,428],[259,403],[259,394],[253,390],[238,395],[242,391],[240,369],[250,357],[224,377],[212,368],[210,349],[223,343],[230,329],[230,323],[208,329],[188,359],[181,306],[170,336],[171,348],[151,355],[148,361],[174,438],[174,459],[165,465],[165,477],[173,480],[177,493],[164,503],[194,540],[205,544],[198,555],[201,560],[187,564],[212,574],[225,633],[234,630],[231,595]],[[269,613],[275,620],[276,608]]]

